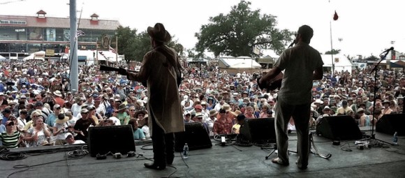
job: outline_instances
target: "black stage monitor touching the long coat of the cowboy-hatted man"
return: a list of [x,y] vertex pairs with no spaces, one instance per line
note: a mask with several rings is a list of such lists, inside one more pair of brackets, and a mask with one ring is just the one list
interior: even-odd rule
[[175,133],[175,151],[183,151],[185,143],[189,145],[189,150],[212,147],[211,139],[202,123],[186,123],[184,127],[184,132]]

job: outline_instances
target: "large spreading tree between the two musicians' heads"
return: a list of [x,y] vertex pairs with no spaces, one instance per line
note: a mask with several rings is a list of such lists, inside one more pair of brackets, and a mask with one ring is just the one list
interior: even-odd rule
[[197,52],[202,54],[208,50],[215,56],[256,56],[252,52],[256,46],[281,54],[293,40],[293,32],[277,29],[274,15],[261,15],[260,10],[251,10],[250,5],[250,2],[240,1],[228,15],[209,17],[210,23],[203,24],[195,35]]

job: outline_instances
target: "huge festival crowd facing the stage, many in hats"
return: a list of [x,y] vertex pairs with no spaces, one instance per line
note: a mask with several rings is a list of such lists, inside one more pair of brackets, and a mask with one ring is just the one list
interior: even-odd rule
[[[3,147],[78,144],[87,142],[91,126],[124,124],[133,127],[135,140],[150,139],[145,107],[149,95],[141,82],[99,71],[98,65],[80,66],[79,89],[71,91],[66,63],[0,65]],[[135,69],[139,65],[122,66]],[[381,69],[374,79],[371,69],[337,71],[334,76],[325,72],[322,80],[314,82],[311,128],[326,116],[351,115],[359,126],[371,126],[384,114],[402,113],[404,72]],[[274,117],[278,90],[259,89],[260,75],[260,71],[230,74],[214,64],[184,66],[179,86],[184,123],[202,122],[209,135],[219,135],[239,133],[245,118]],[[294,125],[291,119],[288,128],[295,131]]]

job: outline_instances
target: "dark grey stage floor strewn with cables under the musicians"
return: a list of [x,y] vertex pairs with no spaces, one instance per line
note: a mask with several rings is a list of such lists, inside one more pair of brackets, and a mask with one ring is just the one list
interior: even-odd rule
[[[365,131],[369,134],[370,131]],[[376,138],[392,142],[392,135],[376,133]],[[189,152],[189,158],[182,160],[176,152],[174,168],[165,170],[149,170],[143,163],[152,158],[152,146],[146,143],[136,146],[136,153],[145,157],[125,156],[120,159],[108,156],[105,160],[96,160],[89,155],[80,159],[64,158],[67,147],[47,147],[56,149],[55,153],[28,156],[18,161],[0,161],[0,177],[16,172],[9,177],[405,177],[405,141],[399,137],[399,145],[389,147],[372,147],[360,150],[355,147],[354,140],[341,142],[341,146],[333,146],[332,141],[314,136],[316,147],[322,154],[332,154],[329,159],[315,154],[309,157],[307,170],[300,170],[295,165],[297,154],[290,154],[290,165],[282,166],[271,162],[265,156],[270,150],[258,146],[239,147],[236,145],[220,146],[212,140],[213,147]],[[296,150],[297,136],[290,135],[290,150]],[[143,147],[143,149],[142,149]],[[343,149],[351,149],[344,151]],[[15,151],[33,150],[29,148]],[[42,151],[43,148],[41,148]],[[43,165],[40,165],[43,164]],[[15,165],[30,165],[26,168],[13,168]]]

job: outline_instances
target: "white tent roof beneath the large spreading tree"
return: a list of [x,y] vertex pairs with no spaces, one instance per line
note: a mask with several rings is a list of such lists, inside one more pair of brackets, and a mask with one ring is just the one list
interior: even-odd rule
[[258,64],[251,57],[219,57],[221,61],[227,68],[261,68],[262,66]]

